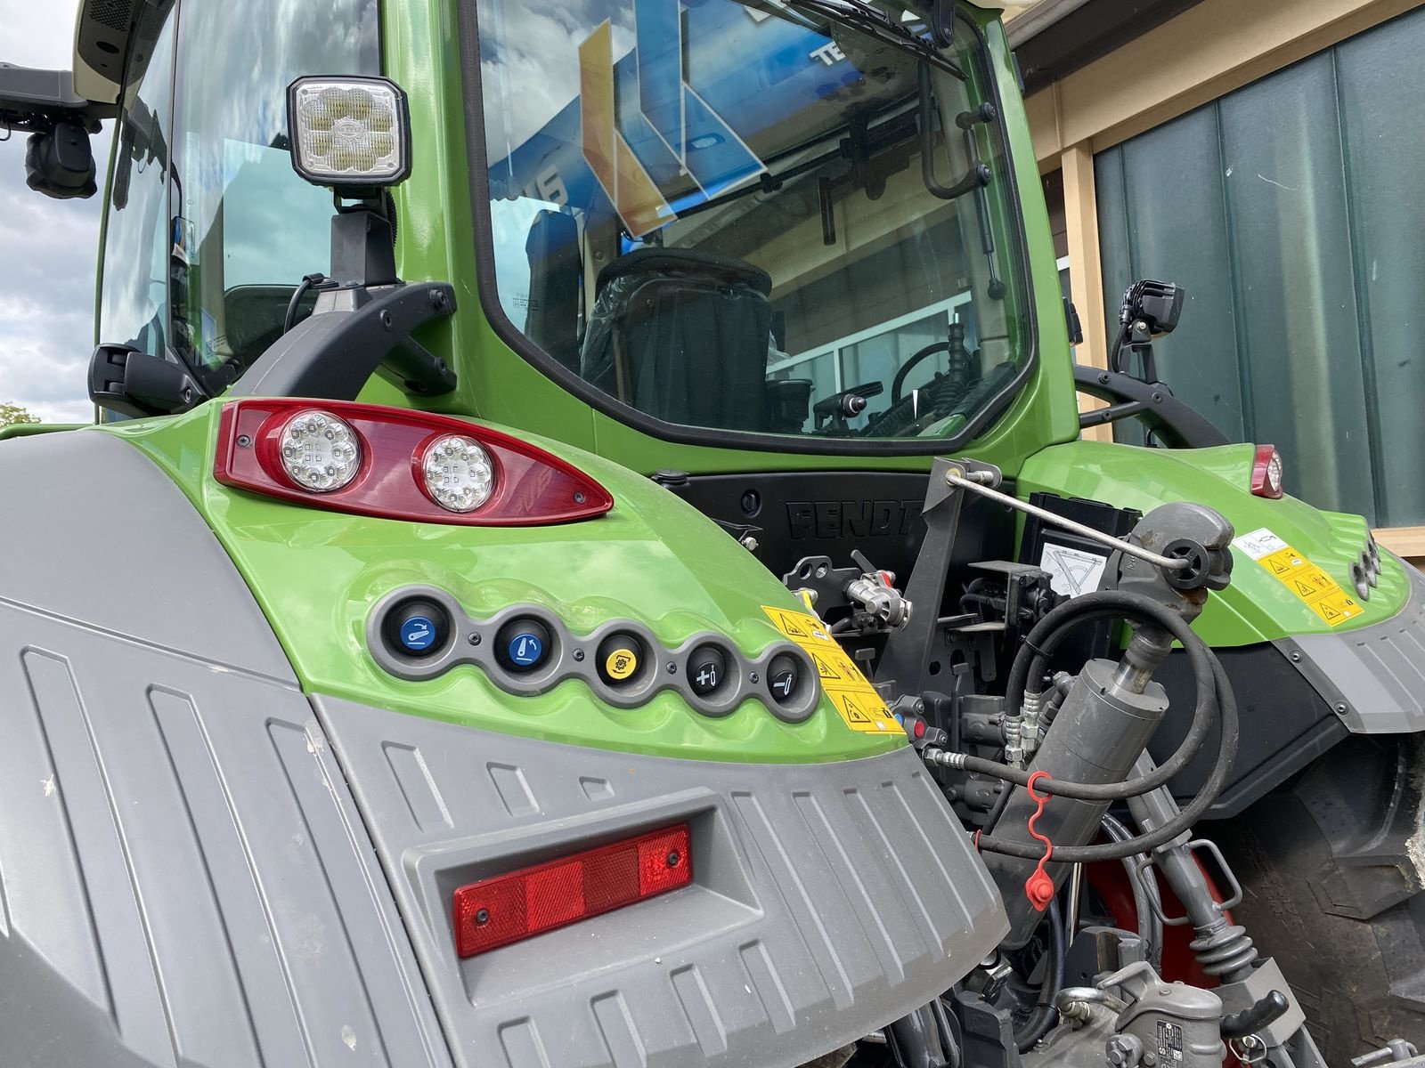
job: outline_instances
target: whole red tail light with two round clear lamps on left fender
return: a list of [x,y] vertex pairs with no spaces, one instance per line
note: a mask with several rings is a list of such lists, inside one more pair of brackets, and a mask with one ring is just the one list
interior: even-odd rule
[[614,503],[583,471],[499,430],[343,400],[224,404],[214,477],[316,508],[477,527],[571,523]]

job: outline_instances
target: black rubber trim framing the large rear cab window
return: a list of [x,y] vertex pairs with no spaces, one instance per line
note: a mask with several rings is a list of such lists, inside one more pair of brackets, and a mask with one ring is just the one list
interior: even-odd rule
[[[1029,326],[1029,352],[1025,366],[1015,375],[1005,387],[995,394],[979,414],[972,419],[955,437],[936,437],[931,440],[913,440],[901,443],[893,437],[872,437],[865,440],[848,439],[815,439],[792,434],[762,434],[741,430],[715,430],[710,427],[688,427],[677,423],[665,423],[654,419],[637,409],[614,400],[607,393],[590,386],[583,377],[561,365],[547,352],[534,345],[524,333],[514,326],[500,306],[494,282],[494,241],[490,222],[490,184],[489,168],[484,150],[484,91],[480,83],[480,30],[477,0],[460,0],[460,70],[465,85],[465,132],[466,159],[470,171],[470,208],[475,224],[475,259],[476,259],[476,289],[484,318],[490,323],[494,335],[504,342],[514,353],[522,356],[530,366],[550,379],[560,389],[574,394],[597,412],[603,412],[620,423],[633,427],[650,437],[677,444],[717,446],[722,449],[738,449],[744,451],[774,451],[817,456],[932,456],[959,449],[966,441],[973,440],[989,429],[1013,403],[1015,397],[1029,382],[1030,375],[1039,367],[1039,316],[1036,313],[1035,283],[1029,263],[1029,238],[1025,234],[1025,212],[1019,197],[1019,185],[1015,181],[1015,162],[1010,155],[1009,138],[1003,137],[1005,148],[1005,182],[1009,208],[1015,215],[1015,236],[1017,238],[1017,263],[1020,278],[1029,293],[1026,322]],[[1005,114],[1005,104],[999,91],[999,80],[993,77],[993,70],[988,63],[989,46],[985,34],[973,19],[963,10],[956,11],[956,17],[963,20],[979,43],[980,54],[979,74],[989,84],[993,94],[995,107],[1000,115]],[[1003,255],[1003,253],[1000,253]]]

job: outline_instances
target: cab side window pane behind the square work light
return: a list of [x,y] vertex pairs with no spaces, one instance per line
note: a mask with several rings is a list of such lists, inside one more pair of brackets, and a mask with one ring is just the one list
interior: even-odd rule
[[378,0],[182,0],[178,37],[174,349],[218,393],[331,269],[332,195],[292,171],[286,87],[378,74]]

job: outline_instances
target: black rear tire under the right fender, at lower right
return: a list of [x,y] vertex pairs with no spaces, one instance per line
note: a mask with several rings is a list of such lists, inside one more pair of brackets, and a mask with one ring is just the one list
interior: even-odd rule
[[1414,739],[1351,738],[1208,832],[1243,884],[1234,918],[1331,1065],[1392,1038],[1425,1048],[1422,776]]

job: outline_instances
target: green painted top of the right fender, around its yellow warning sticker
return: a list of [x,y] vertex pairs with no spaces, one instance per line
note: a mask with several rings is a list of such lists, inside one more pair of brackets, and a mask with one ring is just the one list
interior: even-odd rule
[[[1265,527],[1355,597],[1351,564],[1369,528],[1359,515],[1312,508],[1295,497],[1273,501],[1248,491],[1254,447],[1137,449],[1072,441],[1026,460],[1016,493],[1047,491],[1151,511],[1166,501],[1197,501],[1227,515],[1237,534]],[[1340,634],[1387,619],[1409,598],[1405,565],[1382,554],[1379,585],[1364,612],[1328,627],[1307,604],[1241,550],[1233,550],[1233,581],[1207,600],[1193,628],[1211,645],[1250,645],[1294,634]],[[1359,600],[1359,598],[1357,598]]]

